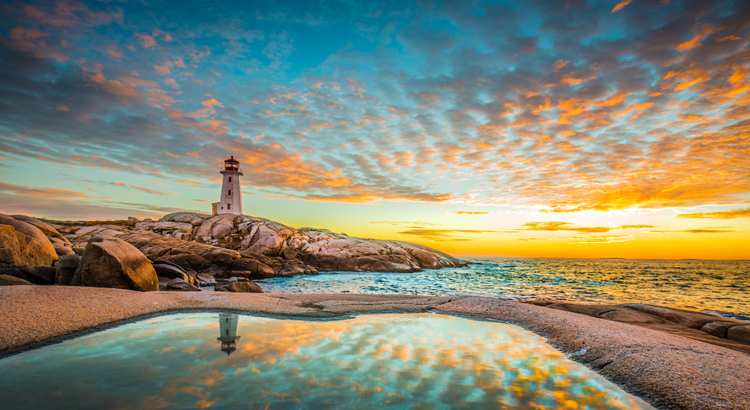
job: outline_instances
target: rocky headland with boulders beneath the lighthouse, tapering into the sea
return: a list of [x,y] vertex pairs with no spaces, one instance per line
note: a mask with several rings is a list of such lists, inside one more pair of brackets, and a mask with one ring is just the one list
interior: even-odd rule
[[[116,259],[119,266],[102,258]],[[418,244],[294,229],[246,215],[180,212],[159,221],[51,221],[0,214],[0,275],[43,285],[146,291],[159,282],[162,290],[199,291],[200,285],[230,278],[416,272],[467,264]]]

